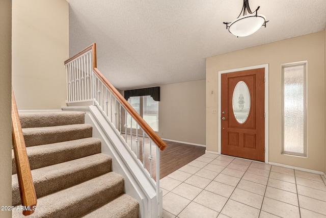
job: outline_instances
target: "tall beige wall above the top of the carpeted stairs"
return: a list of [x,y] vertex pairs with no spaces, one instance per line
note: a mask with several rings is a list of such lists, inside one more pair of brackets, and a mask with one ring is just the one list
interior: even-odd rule
[[59,109],[66,100],[68,3],[15,0],[12,7],[12,84],[17,107]]

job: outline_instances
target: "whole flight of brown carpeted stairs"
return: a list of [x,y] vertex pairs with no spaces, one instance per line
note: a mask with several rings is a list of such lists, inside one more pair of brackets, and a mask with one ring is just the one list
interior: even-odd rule
[[[21,113],[20,121],[37,195],[28,217],[138,217],[139,203],[111,171],[84,112]],[[12,204],[20,204],[12,152]],[[14,210],[13,217],[25,217]]]

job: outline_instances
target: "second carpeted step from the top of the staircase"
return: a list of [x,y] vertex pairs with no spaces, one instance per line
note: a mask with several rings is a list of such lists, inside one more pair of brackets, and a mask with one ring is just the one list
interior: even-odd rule
[[26,147],[92,137],[92,125],[73,124],[22,129]]

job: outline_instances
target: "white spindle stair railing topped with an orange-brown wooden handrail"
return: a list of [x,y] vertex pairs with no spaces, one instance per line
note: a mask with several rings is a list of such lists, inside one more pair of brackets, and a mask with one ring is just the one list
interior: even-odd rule
[[[157,204],[162,205],[159,199],[159,154],[166,148],[165,142],[96,68],[95,43],[65,61],[65,66],[66,103],[93,101],[93,105],[100,109],[123,138],[125,146],[138,159],[138,163],[156,187]],[[127,118],[130,119],[130,126]],[[132,127],[132,124],[135,124],[135,127]],[[152,146],[155,146],[155,153]],[[153,159],[155,161],[152,161]]]

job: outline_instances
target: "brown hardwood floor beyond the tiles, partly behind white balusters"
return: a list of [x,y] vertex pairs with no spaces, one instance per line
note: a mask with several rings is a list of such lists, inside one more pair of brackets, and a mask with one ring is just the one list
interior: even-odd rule
[[[171,174],[187,163],[195,160],[196,158],[205,154],[205,147],[200,146],[191,146],[189,144],[183,144],[172,141],[165,141],[167,144],[167,148],[164,151],[160,151],[160,173],[159,178],[162,179],[165,176]],[[142,145],[142,139],[139,140],[139,145]],[[150,172],[150,150],[152,156],[152,177],[156,179],[156,146],[152,145],[150,149],[150,144],[148,139],[145,139],[144,151],[145,151],[145,167]],[[138,158],[143,163],[143,147],[138,146],[138,152],[136,152],[136,146],[133,144],[132,151],[135,154],[138,154]]]

